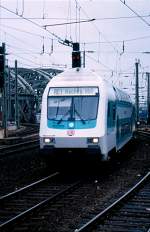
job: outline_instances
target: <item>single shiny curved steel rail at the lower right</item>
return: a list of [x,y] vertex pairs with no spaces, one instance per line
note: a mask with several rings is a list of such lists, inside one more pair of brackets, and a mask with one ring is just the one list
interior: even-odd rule
[[79,229],[75,229],[74,232],[87,232],[87,231],[89,231],[90,227],[95,225],[98,221],[104,219],[104,217],[106,217],[114,208],[119,206],[123,201],[127,200],[131,196],[131,194],[133,194],[135,191],[137,191],[142,186],[142,184],[144,184],[144,182],[147,181],[147,179],[149,177],[150,177],[150,172],[148,172],[134,187],[132,187],[129,191],[127,191],[123,196],[121,196],[113,204],[108,206],[102,212],[98,213],[95,217],[93,217],[91,220],[89,220],[87,223],[85,223]]

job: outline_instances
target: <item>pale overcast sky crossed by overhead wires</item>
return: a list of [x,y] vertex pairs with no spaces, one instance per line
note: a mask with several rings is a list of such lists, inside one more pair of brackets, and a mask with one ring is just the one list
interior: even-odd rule
[[[22,67],[71,67],[72,48],[60,43],[67,39],[80,42],[81,51],[86,51],[86,67],[113,77],[122,87],[127,80],[132,84],[136,59],[141,72],[150,70],[150,54],[144,53],[150,52],[150,1],[122,2],[0,0],[6,8],[0,8],[0,42],[6,43],[8,64],[13,66],[17,59]],[[90,19],[95,20],[54,26]],[[47,27],[49,32],[42,29],[47,24],[52,25]]]

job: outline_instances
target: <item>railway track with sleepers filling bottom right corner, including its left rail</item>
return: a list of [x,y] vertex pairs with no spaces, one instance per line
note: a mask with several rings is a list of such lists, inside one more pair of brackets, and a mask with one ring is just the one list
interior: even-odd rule
[[150,172],[102,212],[84,218],[84,223],[74,232],[149,232],[149,180]]

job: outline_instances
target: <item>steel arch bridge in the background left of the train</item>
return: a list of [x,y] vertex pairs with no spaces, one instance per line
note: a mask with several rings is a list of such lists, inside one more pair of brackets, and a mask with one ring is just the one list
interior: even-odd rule
[[[37,121],[36,116],[40,113],[43,91],[47,83],[61,72],[62,70],[50,68],[17,69],[18,116],[20,122],[34,123]],[[6,108],[7,120],[10,122],[15,121],[15,76],[15,68],[6,69]],[[0,105],[2,105],[1,98]],[[1,118],[0,120],[2,120]]]

